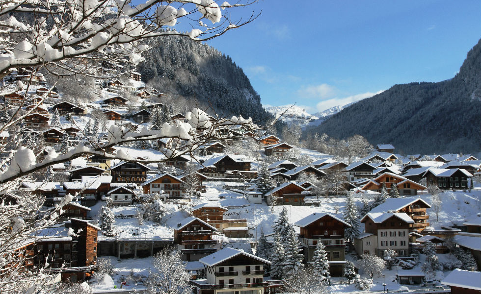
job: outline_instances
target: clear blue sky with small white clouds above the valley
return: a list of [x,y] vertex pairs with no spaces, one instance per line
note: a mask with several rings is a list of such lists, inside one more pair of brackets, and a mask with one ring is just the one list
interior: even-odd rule
[[260,0],[262,14],[207,44],[230,55],[264,105],[314,113],[395,84],[454,76],[481,38],[480,0]]

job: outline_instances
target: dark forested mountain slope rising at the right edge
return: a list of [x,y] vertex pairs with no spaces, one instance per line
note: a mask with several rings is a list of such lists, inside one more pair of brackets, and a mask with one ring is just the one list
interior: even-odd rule
[[478,153],[481,145],[481,40],[459,73],[438,83],[395,85],[308,131],[339,139],[360,134],[404,153]]

